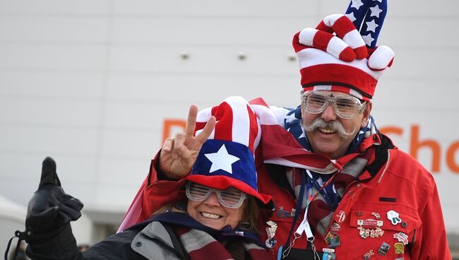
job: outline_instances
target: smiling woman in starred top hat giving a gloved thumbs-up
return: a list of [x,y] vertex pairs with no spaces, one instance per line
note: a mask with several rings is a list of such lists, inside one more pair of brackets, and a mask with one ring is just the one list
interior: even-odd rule
[[[227,134],[232,129],[225,126],[225,119],[232,117],[231,105],[240,106],[240,102],[245,100],[225,100],[223,105],[216,107],[220,112],[213,137],[232,136]],[[250,114],[253,112],[245,111],[249,112],[249,117],[245,118],[256,126],[256,117]],[[214,120],[213,117],[208,119]],[[35,197],[40,190],[50,187],[49,183],[40,183],[29,205],[28,226],[32,226],[32,235],[28,237],[28,256],[38,260],[268,259],[270,256],[256,232],[257,203],[272,208],[273,201],[270,196],[256,191],[254,150],[257,146],[255,142],[259,139],[257,136],[261,133],[258,128],[255,128],[256,131],[251,129],[247,129],[249,132],[240,138],[208,138],[197,155],[191,173],[181,180],[181,191],[184,192],[181,192],[183,198],[178,203],[169,211],[156,213],[149,220],[108,237],[85,252],[78,251],[68,223],[53,229],[48,227],[47,230],[43,228],[46,225],[43,222],[37,225],[40,221],[34,217],[44,211],[35,202],[40,199],[53,201]],[[48,163],[52,166],[47,166]],[[51,158],[47,158],[43,165],[42,182],[46,179],[53,179],[54,188],[60,188],[55,163]],[[41,194],[54,196],[55,193]],[[59,198],[73,199],[66,194]],[[75,201],[72,203],[73,206],[61,211],[68,213],[71,212],[68,208],[73,208],[73,211],[79,212],[82,205],[78,208]],[[61,201],[59,206],[67,204],[71,203]],[[70,218],[75,220],[78,216]]]

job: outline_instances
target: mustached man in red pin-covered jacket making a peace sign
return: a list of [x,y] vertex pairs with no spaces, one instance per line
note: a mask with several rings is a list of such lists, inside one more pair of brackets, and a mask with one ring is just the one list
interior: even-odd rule
[[[371,117],[393,52],[367,49],[355,31],[346,16],[333,15],[294,36],[303,86],[297,109],[251,102],[262,124],[258,189],[277,204],[261,212],[261,237],[273,259],[451,259],[434,178]],[[121,230],[177,200],[174,179],[191,170],[213,115],[191,106],[186,134],[165,141]],[[196,137],[195,128],[202,129]]]

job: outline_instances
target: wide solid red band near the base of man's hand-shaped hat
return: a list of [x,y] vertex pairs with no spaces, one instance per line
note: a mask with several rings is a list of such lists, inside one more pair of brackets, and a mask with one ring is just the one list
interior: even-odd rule
[[374,95],[378,81],[369,73],[353,66],[342,64],[319,64],[307,66],[300,70],[302,74],[302,85],[352,85],[360,92],[371,97]]

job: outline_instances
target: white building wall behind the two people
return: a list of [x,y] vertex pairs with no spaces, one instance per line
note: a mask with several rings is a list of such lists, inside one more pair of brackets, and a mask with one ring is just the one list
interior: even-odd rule
[[[109,213],[116,218],[106,221],[117,224],[160,148],[163,120],[229,95],[297,105],[292,36],[347,4],[0,0],[0,193],[25,206],[50,155],[88,215]],[[450,161],[459,166],[459,2],[388,4],[378,42],[394,49],[395,64],[378,85],[373,114],[378,126],[402,130],[392,136],[403,150],[413,126],[421,141],[439,143],[434,176],[448,232],[459,233],[459,172],[446,163],[453,147]],[[419,150],[429,169],[432,157]]]

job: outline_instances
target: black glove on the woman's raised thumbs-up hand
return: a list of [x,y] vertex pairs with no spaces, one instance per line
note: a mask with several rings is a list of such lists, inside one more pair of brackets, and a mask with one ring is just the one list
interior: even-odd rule
[[83,203],[62,189],[56,173],[56,162],[50,157],[45,158],[40,185],[29,201],[26,230],[32,231],[32,237],[34,233],[52,233],[80,218],[81,208]]

